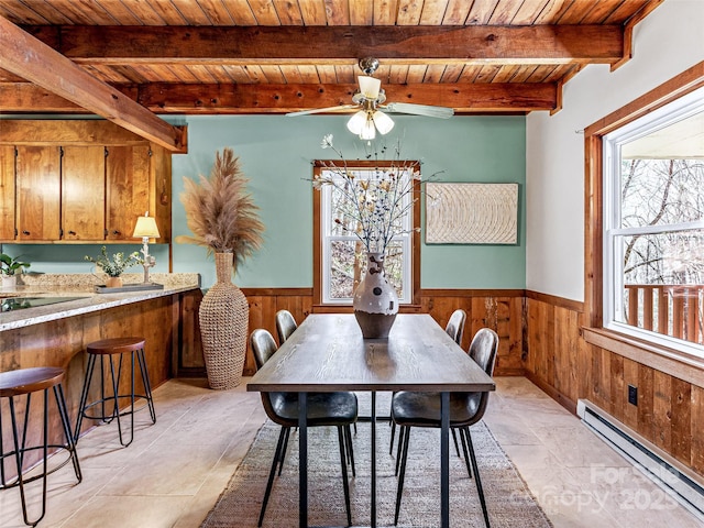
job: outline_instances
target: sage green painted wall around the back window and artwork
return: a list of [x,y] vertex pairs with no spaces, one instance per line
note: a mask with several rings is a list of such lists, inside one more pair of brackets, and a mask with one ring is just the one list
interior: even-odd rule
[[[238,270],[237,284],[246,287],[312,286],[311,162],[334,157],[320,142],[328,133],[348,158],[363,158],[363,143],[344,124],[348,116],[218,116],[170,118],[188,124],[188,154],[173,156],[173,234],[186,234],[180,205],[183,178],[208,175],[216,151],[232,147],[250,178],[249,188],[266,227],[264,246]],[[524,117],[453,117],[449,120],[393,116],[396,127],[385,138],[402,140],[402,157],[420,160],[424,175],[437,172],[442,182],[518,183],[519,244],[422,245],[424,288],[524,288],[526,128]],[[168,249],[150,246],[156,272],[166,271]],[[22,253],[32,271],[88,273],[86,254],[100,246],[8,245]],[[111,248],[109,248],[110,250]],[[139,250],[116,246],[116,251]],[[215,264],[205,249],[173,245],[174,272],[199,272],[204,287],[215,282]],[[139,272],[141,268],[134,268]]]

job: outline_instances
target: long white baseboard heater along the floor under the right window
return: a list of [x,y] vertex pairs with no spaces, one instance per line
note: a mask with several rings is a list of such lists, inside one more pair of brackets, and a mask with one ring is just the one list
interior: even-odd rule
[[578,400],[576,413],[584,425],[704,521],[704,479],[591,402]]

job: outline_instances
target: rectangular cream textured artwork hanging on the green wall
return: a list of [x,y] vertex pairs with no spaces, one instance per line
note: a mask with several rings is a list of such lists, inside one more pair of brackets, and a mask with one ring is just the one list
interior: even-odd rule
[[518,184],[426,184],[427,244],[516,244]]

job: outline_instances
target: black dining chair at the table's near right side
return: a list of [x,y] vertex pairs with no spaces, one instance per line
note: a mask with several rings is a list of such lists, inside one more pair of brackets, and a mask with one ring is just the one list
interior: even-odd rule
[[[488,328],[480,329],[470,344],[470,358],[490,376],[494,374],[497,351],[498,336],[494,330]],[[460,433],[462,451],[470,479],[472,477],[472,469],[474,470],[476,491],[480,496],[480,503],[482,504],[484,522],[488,528],[490,521],[486,512],[486,502],[484,501],[482,481],[480,479],[476,455],[470,433],[470,426],[473,426],[483,418],[487,404],[488,392],[450,394],[450,429],[457,429]],[[392,398],[392,420],[399,427],[398,457],[396,460],[398,490],[396,493],[396,514],[394,517],[394,525],[396,525],[398,522],[402,495],[404,492],[404,476],[406,473],[406,461],[408,459],[410,429],[413,427],[440,427],[440,393],[413,393],[405,391],[396,393]],[[400,471],[398,469],[399,460]]]

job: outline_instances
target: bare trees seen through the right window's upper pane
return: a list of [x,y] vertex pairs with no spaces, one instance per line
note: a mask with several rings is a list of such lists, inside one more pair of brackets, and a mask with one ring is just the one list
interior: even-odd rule
[[622,161],[622,228],[704,218],[704,161]]

